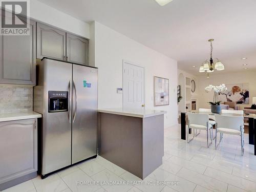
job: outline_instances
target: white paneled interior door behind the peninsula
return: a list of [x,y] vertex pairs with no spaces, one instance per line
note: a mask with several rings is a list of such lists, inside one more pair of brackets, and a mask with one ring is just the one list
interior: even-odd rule
[[123,108],[144,107],[144,68],[123,62]]

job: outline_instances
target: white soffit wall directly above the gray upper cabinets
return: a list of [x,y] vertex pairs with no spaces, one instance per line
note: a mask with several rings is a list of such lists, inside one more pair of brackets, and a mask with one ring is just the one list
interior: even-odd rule
[[30,17],[56,28],[90,38],[89,24],[37,0],[30,1]]

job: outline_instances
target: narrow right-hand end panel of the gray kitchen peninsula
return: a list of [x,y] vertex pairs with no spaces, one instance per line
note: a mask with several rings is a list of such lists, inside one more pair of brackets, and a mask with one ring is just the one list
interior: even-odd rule
[[143,179],[162,164],[164,115],[143,118]]

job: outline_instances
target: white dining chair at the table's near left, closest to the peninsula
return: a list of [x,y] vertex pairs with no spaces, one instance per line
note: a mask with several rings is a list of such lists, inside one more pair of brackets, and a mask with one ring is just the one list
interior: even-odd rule
[[[209,124],[209,115],[208,114],[197,114],[197,113],[187,113],[188,117],[188,126],[187,126],[187,143],[197,137],[198,134],[195,135],[195,130],[206,130],[207,134],[207,147],[209,148],[212,144],[212,125]],[[189,129],[193,129],[193,138],[189,140]],[[208,133],[209,132],[209,133]],[[211,132],[211,133],[210,133]],[[208,135],[210,134],[211,142],[208,142]]]

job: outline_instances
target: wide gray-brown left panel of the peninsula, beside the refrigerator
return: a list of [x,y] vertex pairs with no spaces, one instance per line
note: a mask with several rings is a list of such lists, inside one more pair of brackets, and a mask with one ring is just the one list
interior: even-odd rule
[[99,155],[142,178],[142,118],[99,113]]

